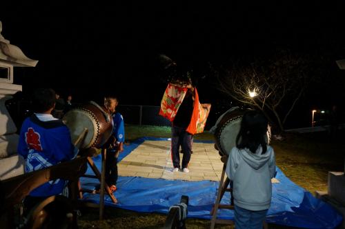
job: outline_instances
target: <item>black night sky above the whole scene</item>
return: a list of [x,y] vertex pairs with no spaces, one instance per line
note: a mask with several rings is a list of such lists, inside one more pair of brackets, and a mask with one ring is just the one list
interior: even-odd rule
[[199,75],[201,102],[217,110],[230,99],[217,91],[209,63],[288,49],[321,55],[331,72],[308,90],[294,119],[344,101],[345,71],[335,64],[345,59],[344,1],[71,2],[1,3],[3,37],[39,60],[15,69],[23,91],[51,87],[77,101],[114,92],[122,104],[158,106],[166,83],[157,54],[164,53]]

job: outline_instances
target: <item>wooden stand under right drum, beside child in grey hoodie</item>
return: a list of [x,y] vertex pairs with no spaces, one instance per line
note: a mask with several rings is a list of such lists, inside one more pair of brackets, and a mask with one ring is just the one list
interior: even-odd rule
[[[210,211],[210,215],[212,215],[211,219],[211,229],[215,228],[215,223],[221,224],[234,224],[235,222],[230,219],[217,219],[218,209],[234,209],[234,199],[233,199],[233,181],[231,181],[228,177],[225,177],[225,170],[226,170],[226,163],[228,162],[228,155],[221,157],[221,161],[224,163],[223,170],[221,170],[221,178],[219,181],[217,199],[215,205],[213,206],[212,210]],[[230,187],[228,188],[228,186]],[[223,198],[225,192],[230,192],[230,204],[220,204],[221,198]],[[266,221],[264,221],[263,225],[264,229],[268,228]]]

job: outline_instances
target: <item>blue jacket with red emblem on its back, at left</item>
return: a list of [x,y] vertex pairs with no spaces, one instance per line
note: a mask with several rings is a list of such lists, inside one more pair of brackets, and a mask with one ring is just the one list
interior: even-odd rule
[[[61,120],[40,121],[36,115],[24,120],[19,137],[18,153],[26,159],[26,172],[54,166],[69,161],[75,154],[70,130]],[[57,179],[35,188],[30,196],[49,197],[59,195],[66,181]]]

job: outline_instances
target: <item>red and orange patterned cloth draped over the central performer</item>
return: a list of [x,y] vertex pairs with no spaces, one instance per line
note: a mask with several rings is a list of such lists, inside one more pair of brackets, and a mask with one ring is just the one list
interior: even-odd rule
[[[159,115],[166,117],[170,121],[174,121],[175,116],[179,110],[184,97],[186,95],[188,88],[180,88],[168,84],[166,91],[164,92],[163,99],[161,99],[161,110],[159,110]],[[190,119],[187,132],[191,135],[199,134],[204,132],[206,120],[208,114],[210,113],[210,103],[201,104],[199,102],[199,94],[197,93],[197,88],[195,88],[195,101],[193,108],[193,115]]]

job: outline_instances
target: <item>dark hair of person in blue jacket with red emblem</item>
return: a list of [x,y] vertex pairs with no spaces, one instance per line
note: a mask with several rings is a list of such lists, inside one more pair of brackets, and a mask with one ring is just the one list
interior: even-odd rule
[[32,96],[32,106],[34,112],[46,112],[54,107],[57,100],[55,91],[50,88],[39,88]]

